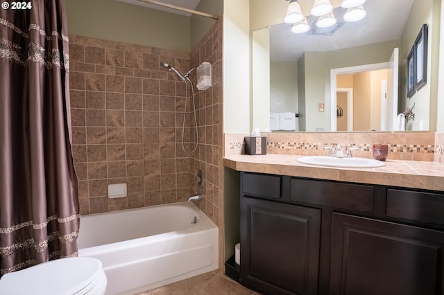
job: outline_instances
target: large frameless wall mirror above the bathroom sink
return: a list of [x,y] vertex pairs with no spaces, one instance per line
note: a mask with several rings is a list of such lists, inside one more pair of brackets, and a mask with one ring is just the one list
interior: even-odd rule
[[[284,0],[268,5],[275,1]],[[292,24],[283,22],[285,10],[282,23],[253,31],[254,127],[434,131],[441,1],[367,0],[366,17],[346,22],[341,0],[332,0],[337,24],[323,29],[309,15],[313,0],[298,2],[310,25],[307,33],[292,33]],[[423,24],[428,26],[427,82],[407,97],[407,57]],[[414,120],[401,127],[399,115],[412,107]],[[296,127],[275,124],[291,114],[298,116]]]

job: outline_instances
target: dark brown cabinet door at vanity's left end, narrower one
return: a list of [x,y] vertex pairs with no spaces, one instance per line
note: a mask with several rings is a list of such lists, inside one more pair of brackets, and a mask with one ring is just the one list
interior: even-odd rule
[[317,294],[321,211],[241,199],[241,278],[265,294]]

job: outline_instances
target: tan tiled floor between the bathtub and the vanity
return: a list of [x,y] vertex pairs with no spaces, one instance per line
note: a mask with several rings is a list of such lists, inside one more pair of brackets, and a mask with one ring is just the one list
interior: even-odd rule
[[201,274],[187,280],[151,289],[137,295],[260,295],[250,289],[246,289],[234,282],[234,280],[220,274],[218,271],[212,271],[207,274]]

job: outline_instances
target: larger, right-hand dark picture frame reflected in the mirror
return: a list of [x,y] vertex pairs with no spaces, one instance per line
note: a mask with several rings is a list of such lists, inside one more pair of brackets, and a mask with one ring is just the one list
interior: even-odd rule
[[415,45],[415,90],[420,89],[427,83],[427,40],[428,26],[423,24],[418,37],[416,37]]

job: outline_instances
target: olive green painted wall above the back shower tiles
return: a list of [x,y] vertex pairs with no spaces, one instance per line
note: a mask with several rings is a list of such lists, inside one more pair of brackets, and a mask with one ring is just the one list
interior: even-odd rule
[[191,18],[117,0],[65,0],[69,34],[191,51]]

